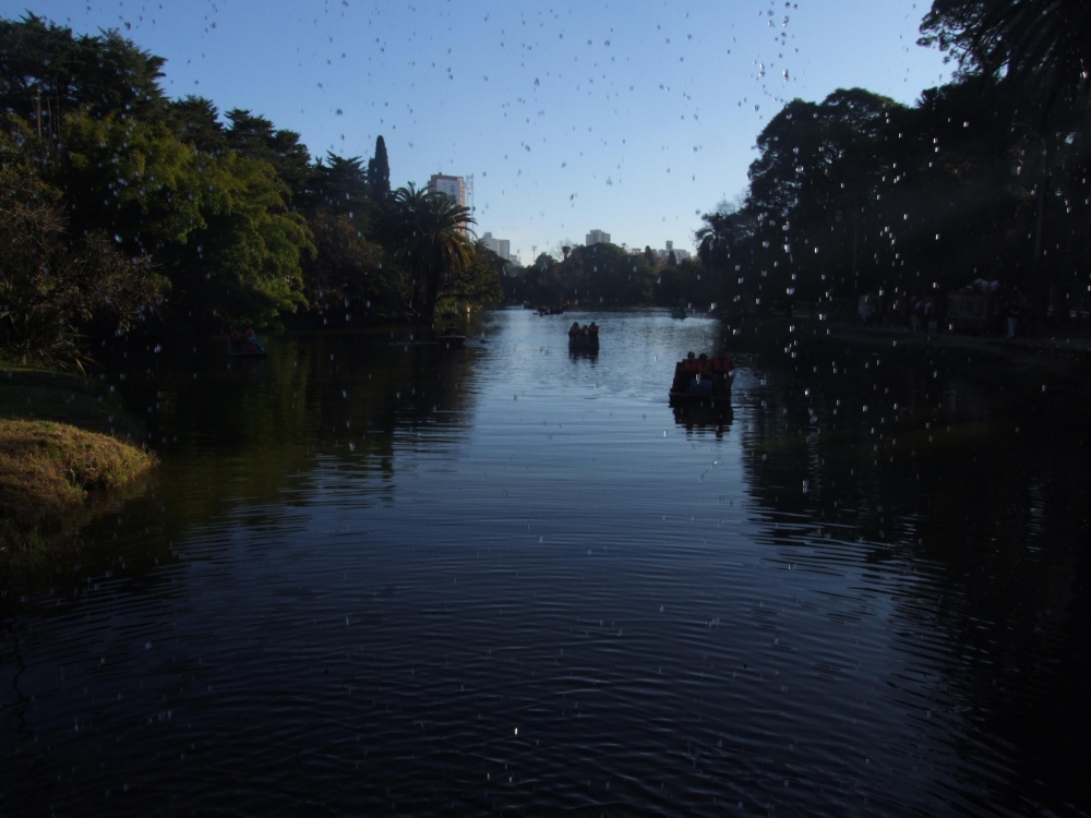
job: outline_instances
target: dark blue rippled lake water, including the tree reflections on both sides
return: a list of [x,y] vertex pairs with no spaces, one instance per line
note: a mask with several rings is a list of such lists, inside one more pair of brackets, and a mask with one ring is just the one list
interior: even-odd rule
[[720,326],[594,317],[134,356],[146,494],[4,579],[0,809],[1087,815],[1078,401],[827,350],[676,418]]

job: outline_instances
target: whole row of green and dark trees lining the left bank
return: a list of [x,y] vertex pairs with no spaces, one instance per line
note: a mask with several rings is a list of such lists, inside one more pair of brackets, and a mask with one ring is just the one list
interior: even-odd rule
[[81,334],[407,318],[501,298],[503,263],[442,194],[391,189],[379,136],[300,135],[168,99],[117,32],[0,20],[0,348],[81,360]]

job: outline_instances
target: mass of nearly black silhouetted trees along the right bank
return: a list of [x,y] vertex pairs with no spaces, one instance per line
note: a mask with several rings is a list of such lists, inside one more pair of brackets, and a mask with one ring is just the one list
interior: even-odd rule
[[757,139],[750,185],[703,216],[702,264],[746,313],[885,309],[976,279],[1039,321],[1086,315],[1091,13],[1081,0],[935,0],[921,44],[954,79],[914,106],[861,88],[795,99]]

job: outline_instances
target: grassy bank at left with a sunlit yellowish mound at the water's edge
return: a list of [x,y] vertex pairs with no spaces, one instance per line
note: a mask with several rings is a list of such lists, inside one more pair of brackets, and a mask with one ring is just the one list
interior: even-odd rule
[[0,370],[0,562],[44,545],[88,502],[155,464],[128,441],[140,423],[103,385],[79,375]]

